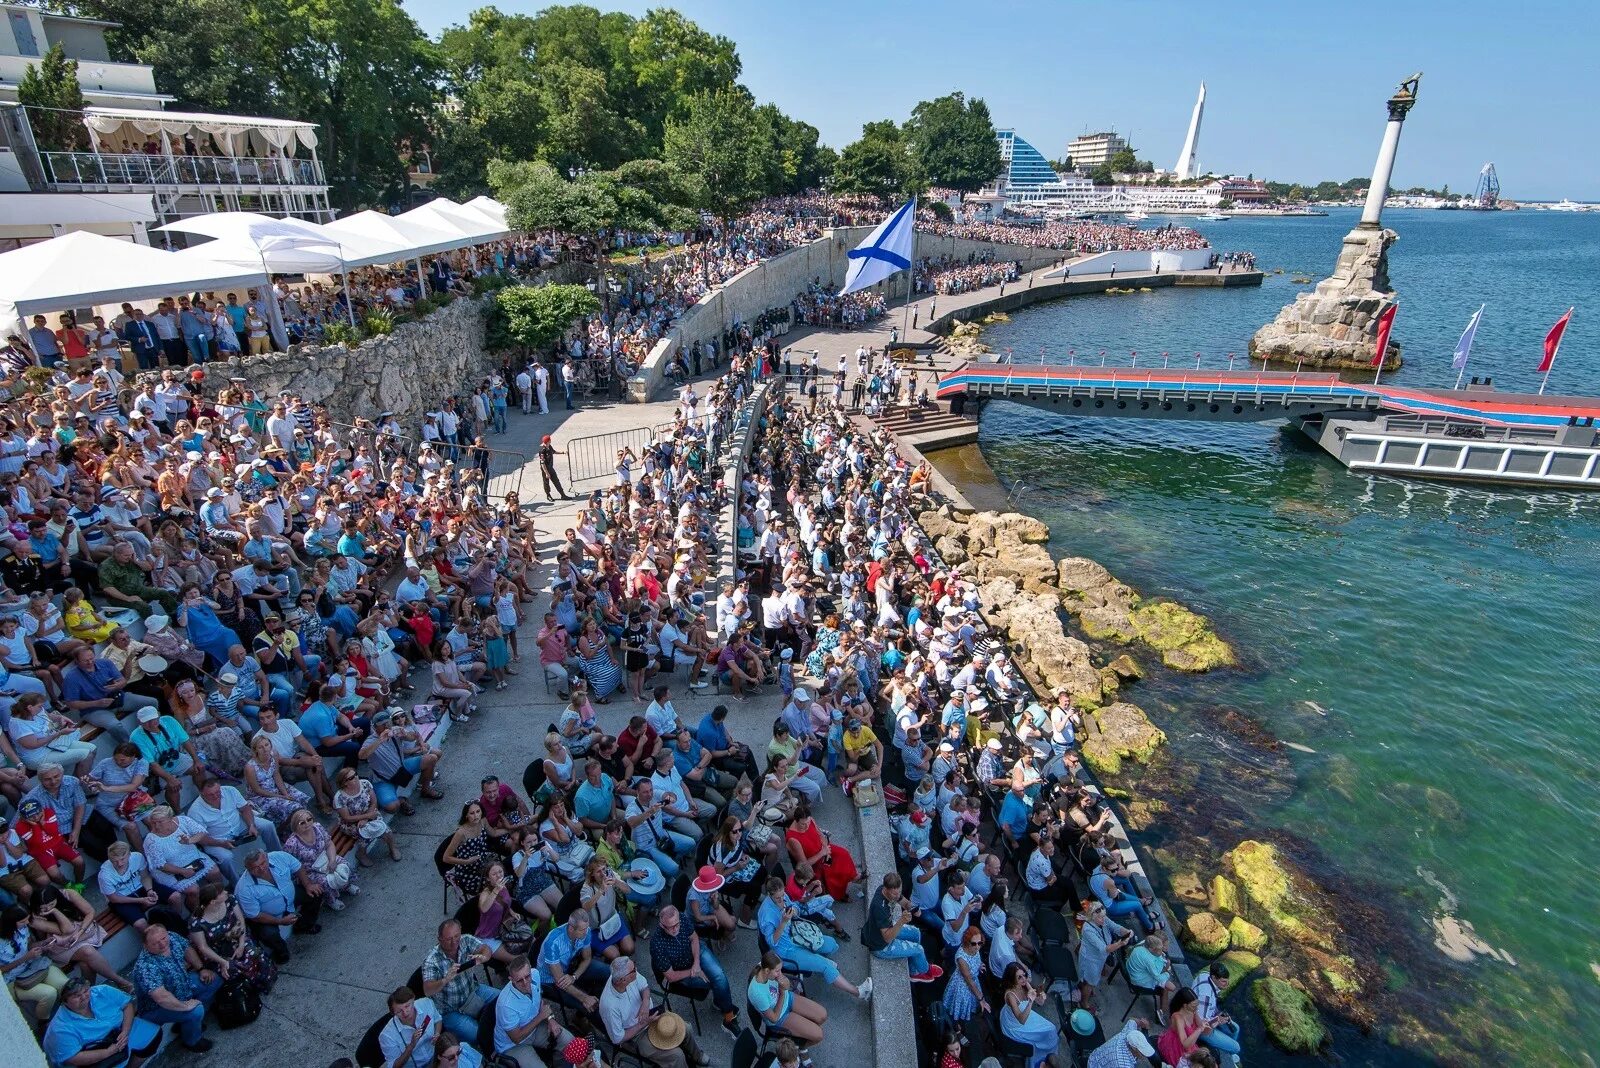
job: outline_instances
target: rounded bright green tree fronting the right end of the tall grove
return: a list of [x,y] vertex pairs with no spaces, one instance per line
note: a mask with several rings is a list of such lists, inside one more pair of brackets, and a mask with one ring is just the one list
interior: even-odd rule
[[701,203],[726,219],[768,189],[774,133],[742,90],[701,93],[667,120],[662,155],[699,187]]

